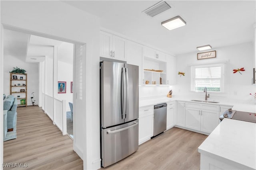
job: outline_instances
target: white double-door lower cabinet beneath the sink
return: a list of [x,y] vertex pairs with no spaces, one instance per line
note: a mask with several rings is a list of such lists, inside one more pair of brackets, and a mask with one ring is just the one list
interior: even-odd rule
[[219,124],[218,118],[218,105],[186,102],[186,128],[211,133]]

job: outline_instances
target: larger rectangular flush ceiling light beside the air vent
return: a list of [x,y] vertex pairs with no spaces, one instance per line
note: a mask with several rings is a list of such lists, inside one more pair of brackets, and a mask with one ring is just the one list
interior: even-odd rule
[[172,30],[178,27],[185,26],[186,21],[184,21],[180,16],[176,16],[174,18],[171,18],[170,20],[163,21],[161,24],[167,29]]

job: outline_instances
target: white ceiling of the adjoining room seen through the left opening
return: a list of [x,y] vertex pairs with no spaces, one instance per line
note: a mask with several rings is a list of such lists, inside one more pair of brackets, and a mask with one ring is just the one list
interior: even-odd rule
[[61,49],[58,50],[59,61],[73,63],[73,44],[71,43],[4,30],[4,55],[19,57],[27,63],[42,62],[45,56],[52,57],[54,46]]

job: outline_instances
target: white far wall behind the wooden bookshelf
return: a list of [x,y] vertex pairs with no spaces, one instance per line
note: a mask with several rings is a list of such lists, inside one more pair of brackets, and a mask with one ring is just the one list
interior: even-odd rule
[[27,71],[27,104],[32,105],[30,97],[32,97],[31,93],[34,92],[34,100],[36,100],[35,104],[37,105],[39,93],[38,63],[25,63],[21,56],[4,56],[4,94],[10,95],[10,71],[16,66]]

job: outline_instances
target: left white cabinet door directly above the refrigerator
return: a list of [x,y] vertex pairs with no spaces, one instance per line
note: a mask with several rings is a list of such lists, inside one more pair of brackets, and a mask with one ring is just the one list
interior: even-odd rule
[[112,35],[100,31],[100,57],[111,58]]

